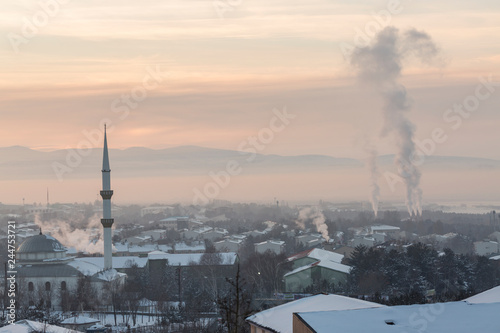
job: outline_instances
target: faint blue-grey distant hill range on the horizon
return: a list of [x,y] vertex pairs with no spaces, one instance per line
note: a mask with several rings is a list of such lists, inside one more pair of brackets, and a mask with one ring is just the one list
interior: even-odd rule
[[[394,156],[379,157],[381,166],[393,164]],[[114,177],[158,177],[175,175],[206,175],[226,168],[235,161],[247,174],[314,172],[325,170],[360,169],[364,162],[327,155],[264,155],[198,146],[167,149],[131,147],[110,149]],[[101,170],[102,149],[94,148],[81,156],[76,150],[63,149],[42,152],[21,146],[0,148],[0,179],[54,178],[54,166],[67,167],[69,178],[95,178]],[[500,161],[457,156],[426,157],[422,169],[483,170],[500,169]]]

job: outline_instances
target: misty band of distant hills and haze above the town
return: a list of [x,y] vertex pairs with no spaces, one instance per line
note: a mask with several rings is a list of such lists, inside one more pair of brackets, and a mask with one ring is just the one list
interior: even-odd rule
[[[112,142],[113,137],[108,140]],[[70,162],[76,150],[55,152],[27,151],[19,155],[15,148],[0,148],[0,158],[10,163],[0,164],[0,182],[9,192],[2,191],[0,202],[45,203],[47,188],[51,202],[93,202],[100,200],[102,149],[96,148],[81,156],[79,164]],[[10,153],[10,155],[8,154]],[[7,157],[10,156],[10,157]],[[195,189],[204,192],[208,183],[216,183],[215,175],[226,171],[226,163],[235,161],[239,174],[230,178],[227,186],[219,186],[218,194],[208,199],[238,202],[272,202],[274,198],[288,202],[367,201],[369,175],[364,160],[342,157],[280,156],[259,154],[246,161],[248,154],[230,150],[213,150],[194,146],[167,150],[140,148],[110,148],[111,184],[117,203],[190,203]],[[392,155],[380,156],[381,201],[404,202],[403,184],[385,179],[396,173]],[[63,168],[55,172],[54,163]],[[428,157],[422,165],[424,204],[449,201],[494,201],[500,185],[500,161],[464,157]],[[211,176],[212,174],[212,176]],[[224,185],[225,176],[219,182]],[[394,191],[391,188],[391,182]],[[457,183],[458,186],[451,186]],[[209,192],[210,194],[212,192]],[[16,200],[12,200],[12,198]],[[71,198],[71,199],[69,199]],[[202,202],[199,202],[202,203]]]

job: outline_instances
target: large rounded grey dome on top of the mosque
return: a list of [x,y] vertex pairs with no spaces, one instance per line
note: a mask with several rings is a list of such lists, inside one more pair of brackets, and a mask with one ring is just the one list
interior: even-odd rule
[[17,248],[17,257],[21,262],[58,262],[66,260],[66,248],[49,235],[32,236],[25,239]]

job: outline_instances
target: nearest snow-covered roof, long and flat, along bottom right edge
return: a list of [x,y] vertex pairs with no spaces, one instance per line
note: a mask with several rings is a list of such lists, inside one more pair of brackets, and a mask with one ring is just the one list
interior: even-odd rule
[[498,332],[500,303],[465,302],[400,305],[376,309],[299,312],[311,331],[386,333]]

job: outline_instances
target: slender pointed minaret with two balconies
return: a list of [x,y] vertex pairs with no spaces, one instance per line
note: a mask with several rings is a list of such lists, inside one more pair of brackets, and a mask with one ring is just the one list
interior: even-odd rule
[[104,125],[104,150],[102,155],[102,211],[103,218],[101,219],[104,228],[104,269],[113,267],[112,248],[111,248],[111,227],[113,226],[113,218],[111,218],[111,179],[108,157],[108,140],[106,138],[106,125]]

